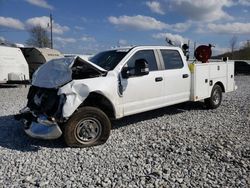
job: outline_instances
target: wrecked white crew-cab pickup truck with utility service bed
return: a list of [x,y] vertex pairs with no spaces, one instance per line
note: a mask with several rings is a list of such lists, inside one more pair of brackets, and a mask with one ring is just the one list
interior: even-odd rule
[[63,132],[68,146],[87,147],[106,142],[111,119],[203,99],[214,109],[235,89],[234,62],[188,63],[178,47],[112,49],[42,65],[16,118],[31,137]]

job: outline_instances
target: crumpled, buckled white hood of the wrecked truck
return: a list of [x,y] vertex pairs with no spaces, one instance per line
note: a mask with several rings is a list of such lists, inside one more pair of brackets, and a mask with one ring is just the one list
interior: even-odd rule
[[42,66],[33,74],[32,85],[43,88],[58,88],[72,80],[72,69],[77,58],[88,64],[93,70],[105,73],[107,70],[79,56],[71,58],[53,59]]

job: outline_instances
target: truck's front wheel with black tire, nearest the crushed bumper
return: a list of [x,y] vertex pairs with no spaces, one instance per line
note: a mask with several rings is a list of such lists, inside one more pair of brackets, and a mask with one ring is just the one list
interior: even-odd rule
[[96,107],[82,107],[64,125],[64,140],[70,147],[90,147],[103,144],[110,135],[107,115]]

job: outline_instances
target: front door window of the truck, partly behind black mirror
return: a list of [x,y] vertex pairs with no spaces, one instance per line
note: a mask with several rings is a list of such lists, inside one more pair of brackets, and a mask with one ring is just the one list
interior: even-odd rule
[[135,61],[138,59],[145,59],[148,62],[149,71],[158,70],[153,50],[141,50],[136,52],[127,62],[127,65],[131,70],[135,67]]

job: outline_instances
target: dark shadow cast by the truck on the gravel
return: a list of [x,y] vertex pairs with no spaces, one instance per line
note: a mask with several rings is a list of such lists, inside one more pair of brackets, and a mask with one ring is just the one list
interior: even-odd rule
[[[164,115],[174,115],[189,110],[203,110],[203,103],[187,102],[174,106],[169,106],[149,112],[144,112],[132,116],[112,121],[112,129],[118,129],[129,124],[161,117]],[[111,133],[112,134],[112,133]],[[21,152],[37,152],[42,147],[45,148],[65,148],[67,147],[63,138],[57,140],[39,140],[30,138],[22,129],[22,124],[14,119],[13,115],[0,117],[0,149],[7,148]]]

